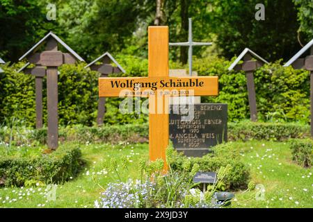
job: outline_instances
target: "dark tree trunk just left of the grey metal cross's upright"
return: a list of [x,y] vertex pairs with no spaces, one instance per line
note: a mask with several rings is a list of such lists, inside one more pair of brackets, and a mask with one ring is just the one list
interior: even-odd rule
[[[180,30],[180,42],[188,41],[188,0],[180,0],[180,18],[182,28]],[[186,64],[188,61],[188,47],[181,46],[180,47],[180,62],[182,64]]]

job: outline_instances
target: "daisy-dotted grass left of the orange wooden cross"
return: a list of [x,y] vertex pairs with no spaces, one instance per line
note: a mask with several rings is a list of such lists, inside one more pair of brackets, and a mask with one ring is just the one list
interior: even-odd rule
[[[133,145],[77,145],[81,147],[83,157],[88,165],[70,182],[58,185],[56,201],[47,201],[47,187],[24,187],[0,189],[0,207],[94,207],[94,202],[109,182],[118,182],[118,178],[103,171],[104,161],[115,157],[128,156],[130,165],[128,171],[120,171],[122,180],[128,176],[138,176],[137,163],[141,157],[148,155],[147,144]],[[97,181],[97,182],[96,182]],[[99,185],[98,185],[99,183]]]

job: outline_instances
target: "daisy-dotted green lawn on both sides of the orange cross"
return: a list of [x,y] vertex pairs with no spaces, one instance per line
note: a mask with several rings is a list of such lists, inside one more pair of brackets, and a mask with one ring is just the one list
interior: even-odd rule
[[[256,200],[257,190],[238,191],[232,207],[313,207],[312,169],[294,164],[287,144],[259,141],[233,144],[250,166],[252,181],[263,185],[265,193],[264,200]],[[47,201],[46,187],[1,188],[0,207],[93,207],[102,187],[118,182],[115,175],[103,171],[104,161],[127,155],[129,170],[120,171],[122,180],[126,180],[138,177],[138,160],[148,156],[147,144],[77,146],[81,147],[88,165],[78,178],[58,185],[56,201]]]

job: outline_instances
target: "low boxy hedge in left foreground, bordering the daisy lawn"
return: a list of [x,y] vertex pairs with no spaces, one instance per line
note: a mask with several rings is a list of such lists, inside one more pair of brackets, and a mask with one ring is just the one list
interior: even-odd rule
[[79,148],[58,148],[37,157],[1,156],[0,186],[63,183],[77,176],[84,161]]

